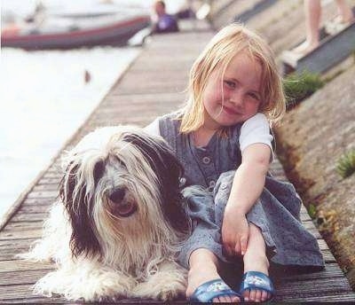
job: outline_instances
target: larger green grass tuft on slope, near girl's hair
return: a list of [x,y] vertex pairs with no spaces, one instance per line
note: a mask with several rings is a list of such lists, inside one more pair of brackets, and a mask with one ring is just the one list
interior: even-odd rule
[[301,74],[289,74],[283,81],[283,89],[287,98],[287,106],[296,106],[304,98],[324,86],[319,74],[304,71]]

